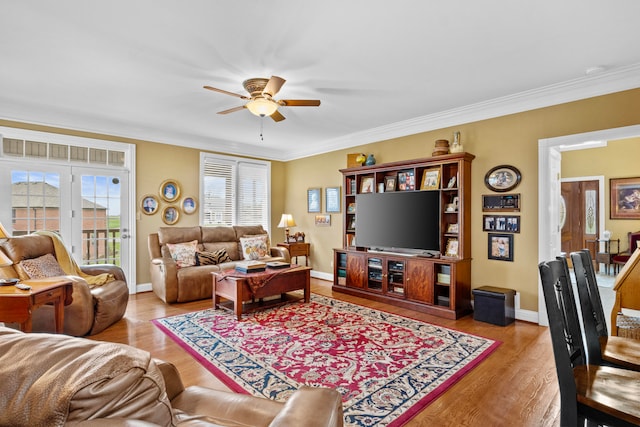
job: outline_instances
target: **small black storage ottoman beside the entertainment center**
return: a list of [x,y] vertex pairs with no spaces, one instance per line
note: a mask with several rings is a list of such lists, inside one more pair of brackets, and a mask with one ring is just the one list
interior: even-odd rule
[[513,289],[483,286],[473,290],[473,318],[481,322],[506,326],[516,318]]

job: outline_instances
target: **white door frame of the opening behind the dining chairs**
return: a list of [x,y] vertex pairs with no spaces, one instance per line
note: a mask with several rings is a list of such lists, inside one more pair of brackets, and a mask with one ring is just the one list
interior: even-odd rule
[[[557,170],[560,170],[559,165],[554,166],[553,163],[560,161],[561,152],[580,149],[582,146],[588,148],[589,144],[594,141],[610,141],[637,136],[640,136],[640,125],[538,140],[538,262],[554,259],[560,254],[560,230],[558,228],[560,213],[557,202],[560,198],[560,186],[557,185],[557,192],[547,190],[556,187],[552,184],[553,180],[557,180],[558,183],[560,181],[560,176],[551,176],[551,171],[555,170],[555,166],[557,166]],[[604,227],[604,222],[602,224]],[[545,326],[549,324],[539,275],[538,323]]]

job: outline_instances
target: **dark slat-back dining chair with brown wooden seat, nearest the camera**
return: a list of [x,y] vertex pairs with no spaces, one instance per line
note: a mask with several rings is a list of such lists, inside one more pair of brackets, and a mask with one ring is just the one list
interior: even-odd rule
[[566,258],[538,268],[560,388],[560,425],[640,425],[640,373],[586,364]]

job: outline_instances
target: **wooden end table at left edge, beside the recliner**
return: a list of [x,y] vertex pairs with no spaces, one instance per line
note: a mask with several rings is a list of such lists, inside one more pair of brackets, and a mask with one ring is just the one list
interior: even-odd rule
[[64,277],[24,280],[31,286],[23,291],[15,286],[0,286],[0,321],[19,323],[23,332],[31,332],[32,313],[45,304],[53,304],[56,333],[64,329],[64,306],[73,301],[73,286]]

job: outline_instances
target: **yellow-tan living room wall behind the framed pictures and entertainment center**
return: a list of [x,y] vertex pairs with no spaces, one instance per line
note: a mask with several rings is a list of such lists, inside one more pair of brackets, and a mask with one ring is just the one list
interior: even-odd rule
[[[323,189],[322,210],[325,211],[324,189],[340,186],[338,169],[346,167],[347,153],[373,153],[378,163],[429,157],[437,139],[452,140],[460,131],[465,151],[476,156],[472,164],[472,287],[492,285],[516,289],[521,293],[521,308],[537,311],[538,307],[538,140],[562,135],[590,132],[640,124],[640,89],[561,104],[425,132],[403,138],[375,142],[360,147],[322,154],[272,165],[272,240],[282,241],[284,232],[276,228],[283,212],[293,214],[298,226],[311,242],[314,270],[332,272],[332,249],[342,245],[342,222],[332,214],[331,227],[316,227],[315,214],[307,213],[308,188]],[[156,193],[160,182],[173,178],[185,193],[197,196],[198,150],[172,147],[151,142],[128,140],[82,132],[43,128],[0,120],[1,126],[24,127],[48,132],[104,138],[137,145],[137,196]],[[616,160],[632,162],[636,156],[621,155]],[[181,159],[177,162],[176,159]],[[595,163],[595,161],[591,161]],[[482,194],[490,194],[484,186],[485,173],[494,166],[509,164],[520,169],[522,182],[514,190],[522,194],[521,232],[514,237],[514,261],[487,259],[487,233],[482,231]],[[589,175],[596,173],[590,172]],[[344,211],[344,206],[342,207]],[[197,215],[183,216],[178,225],[196,224]],[[161,226],[158,215],[142,215],[138,221],[138,283],[149,281],[149,259],[146,248],[148,233]],[[612,227],[613,230],[613,227]]]

